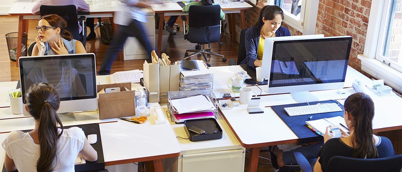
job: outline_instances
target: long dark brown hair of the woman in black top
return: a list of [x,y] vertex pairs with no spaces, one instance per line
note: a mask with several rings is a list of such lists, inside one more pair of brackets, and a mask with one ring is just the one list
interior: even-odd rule
[[345,100],[343,106],[352,118],[354,133],[352,135],[353,158],[375,158],[378,155],[373,141],[372,120],[374,102],[364,93],[355,93]]

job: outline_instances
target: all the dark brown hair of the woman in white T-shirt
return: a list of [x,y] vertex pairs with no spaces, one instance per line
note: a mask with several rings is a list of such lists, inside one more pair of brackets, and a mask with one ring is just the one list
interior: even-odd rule
[[[51,171],[56,158],[57,139],[62,135],[57,131],[57,124],[63,129],[62,122],[57,117],[60,98],[55,88],[45,82],[33,84],[25,94],[29,114],[39,120],[39,146],[40,155],[37,161],[38,172]],[[56,158],[57,162],[57,158]]]

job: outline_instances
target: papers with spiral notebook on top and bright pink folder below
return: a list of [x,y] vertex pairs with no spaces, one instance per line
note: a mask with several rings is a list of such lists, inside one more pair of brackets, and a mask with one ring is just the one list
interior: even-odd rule
[[213,111],[216,107],[208,96],[199,94],[169,101],[173,107],[172,118],[177,123],[188,119],[215,118]]

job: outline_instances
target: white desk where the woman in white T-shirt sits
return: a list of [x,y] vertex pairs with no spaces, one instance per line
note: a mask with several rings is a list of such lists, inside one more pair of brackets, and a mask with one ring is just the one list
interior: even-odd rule
[[[110,82],[109,76],[97,76],[96,78],[100,84]],[[0,83],[0,85],[9,84],[15,88],[16,83],[7,82]],[[0,143],[8,135],[4,132],[33,129],[35,126],[32,117],[4,113],[8,109],[10,107],[0,108]],[[117,119],[99,120],[96,111],[75,113],[74,116],[77,121],[65,124],[65,126],[100,123],[105,166],[154,161],[155,170],[163,171],[162,159],[180,156],[181,149],[169,125],[170,119],[168,120],[167,117],[165,117],[167,123],[163,125],[155,125],[153,117],[149,117],[146,123],[137,125]],[[12,119],[8,119],[10,117]],[[0,156],[0,167],[2,168],[4,162],[3,148],[0,148]]]

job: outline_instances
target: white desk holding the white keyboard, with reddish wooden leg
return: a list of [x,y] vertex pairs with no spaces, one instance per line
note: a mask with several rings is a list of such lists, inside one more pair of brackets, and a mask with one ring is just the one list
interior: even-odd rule
[[[219,68],[218,71],[241,71],[240,66],[224,66],[213,67]],[[215,69],[213,69],[215,71]],[[230,90],[226,86],[226,81],[232,76],[216,75],[219,73],[214,72],[214,88],[220,90]],[[363,74],[357,72],[353,68],[348,66],[345,86],[351,86],[351,83],[355,79],[361,80],[366,85],[371,85],[371,80]],[[216,84],[215,84],[216,83]],[[226,87],[226,88],[225,88]],[[260,86],[260,88],[267,88],[267,86]],[[345,88],[347,93],[344,95],[338,94],[336,90],[322,90],[314,91],[312,94],[319,98],[319,100],[333,100],[333,99],[345,99],[347,96],[355,93],[352,88]],[[215,90],[214,90],[215,91]],[[219,95],[214,92],[215,95]],[[265,94],[267,94],[265,92]],[[374,92],[367,91],[375,104],[375,115],[373,118],[373,129],[375,132],[391,131],[402,129],[402,98],[399,96],[377,96]],[[255,172],[258,164],[258,154],[260,147],[269,145],[277,145],[284,143],[295,143],[299,139],[293,131],[281,120],[281,118],[271,109],[271,106],[280,104],[293,104],[297,103],[293,100],[290,94],[276,94],[259,96],[262,100],[260,107],[263,109],[262,114],[248,114],[247,105],[240,105],[232,110],[221,111],[222,116],[228,123],[240,144],[243,147],[250,149],[250,162],[248,171]],[[341,103],[344,100],[340,100]],[[244,122],[244,119],[252,122]]]

